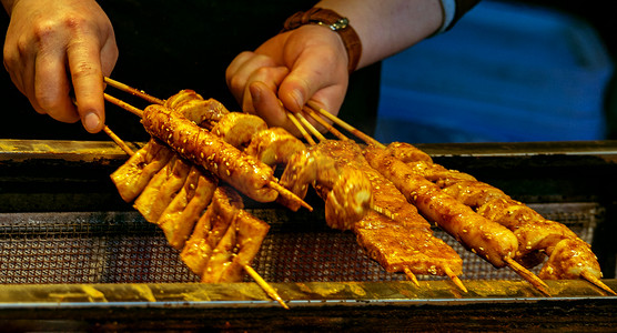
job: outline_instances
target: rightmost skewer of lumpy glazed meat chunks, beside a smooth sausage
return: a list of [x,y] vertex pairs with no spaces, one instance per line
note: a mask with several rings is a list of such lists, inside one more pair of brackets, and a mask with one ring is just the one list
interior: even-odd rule
[[388,145],[388,150],[404,159],[407,165],[413,165],[414,172],[436,183],[444,193],[510,230],[518,240],[515,260],[524,266],[534,268],[548,255],[539,272],[542,279],[577,279],[585,274],[596,279],[601,276],[589,244],[566,225],[544,219],[502,190],[469,174],[433,163],[428,155],[422,155],[411,144],[395,143]]

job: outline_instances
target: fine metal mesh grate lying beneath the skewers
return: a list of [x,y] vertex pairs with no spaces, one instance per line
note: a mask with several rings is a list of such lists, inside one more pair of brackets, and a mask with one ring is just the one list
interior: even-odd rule
[[[568,225],[587,242],[591,242],[594,229],[604,218],[604,208],[597,203],[530,206],[545,218]],[[370,260],[351,232],[330,230],[323,220],[291,221],[294,214],[277,214],[274,210],[252,212],[273,225],[253,262],[266,281],[405,280],[403,274],[387,273]],[[444,232],[435,234],[463,258],[462,279],[519,280],[509,270],[495,270],[463,250]],[[199,276],[182,263],[159,228],[136,212],[0,214],[1,284],[198,281]]]

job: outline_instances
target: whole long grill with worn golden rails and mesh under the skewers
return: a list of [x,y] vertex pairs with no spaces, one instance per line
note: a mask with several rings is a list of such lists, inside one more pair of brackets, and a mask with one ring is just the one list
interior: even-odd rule
[[[568,225],[591,243],[606,283],[617,289],[616,142],[418,147],[436,162]],[[435,234],[464,260],[467,294],[442,278],[418,276],[416,287],[402,274],[386,273],[353,233],[328,229],[320,209],[292,213],[251,201],[247,209],[271,224],[253,266],[291,300],[292,311],[281,313],[254,283],[192,283],[199,279],[178,251],[111,183],[109,174],[125,159],[111,142],[0,140],[0,326],[464,331],[483,324],[490,331],[611,331],[617,325],[617,297],[580,280],[549,281],[553,297],[543,297],[439,230]],[[316,196],[308,200],[323,206]]]

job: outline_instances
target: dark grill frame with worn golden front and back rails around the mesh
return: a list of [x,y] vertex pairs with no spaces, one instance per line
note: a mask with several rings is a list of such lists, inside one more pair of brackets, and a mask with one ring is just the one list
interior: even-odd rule
[[[135,150],[142,144],[130,143]],[[611,241],[611,235],[617,234],[617,193],[613,191],[617,180],[611,178],[617,172],[617,142],[417,147],[433,155],[437,163],[468,172],[534,208],[542,209],[549,203],[567,210],[572,204],[597,204],[601,219],[590,231],[591,245],[607,278],[605,283],[617,289],[617,245]],[[0,221],[2,216],[10,219],[20,214],[131,212],[131,205],[120,199],[109,180],[109,174],[125,159],[127,155],[112,142],[0,140]],[[315,206],[318,200],[308,198],[310,203],[316,203]],[[282,216],[281,220],[292,216],[292,213],[272,205],[247,199],[245,203],[249,209],[266,216],[272,210]],[[284,230],[285,225],[275,224],[271,232]],[[251,282],[211,285],[11,283],[0,284],[0,323],[7,327],[27,329],[45,327],[37,325],[50,321],[78,329],[135,329],[138,324],[142,325],[141,329],[156,329],[156,323],[165,323],[172,327],[233,331],[299,329],[300,323],[306,325],[302,326],[304,330],[342,329],[381,322],[382,329],[407,325],[405,327],[433,331],[473,329],[462,324],[463,319],[469,317],[487,324],[487,327],[497,327],[500,321],[495,319],[496,315],[523,315],[527,319],[512,320],[506,327],[583,327],[574,321],[573,313],[576,312],[575,316],[585,317],[600,331],[616,324],[614,315],[606,314],[615,313],[617,297],[607,296],[583,281],[549,281],[554,292],[550,300],[520,281],[466,280],[465,284],[468,294],[458,293],[445,280],[421,281],[423,289],[405,281],[273,283],[283,299],[291,300],[293,310],[282,314],[282,310]],[[247,309],[250,313],[245,311]],[[384,311],[391,316],[388,323],[381,320]],[[439,311],[439,321],[432,319],[434,311]],[[204,321],[205,317],[209,321]],[[292,317],[295,324],[290,323]],[[299,317],[302,320],[297,321]]]

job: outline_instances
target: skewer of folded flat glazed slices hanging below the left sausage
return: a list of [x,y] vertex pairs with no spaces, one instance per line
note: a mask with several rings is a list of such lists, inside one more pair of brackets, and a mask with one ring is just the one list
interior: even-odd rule
[[[149,149],[144,147],[135,155],[145,154]],[[119,170],[132,163],[129,160]],[[132,173],[123,180],[135,183],[139,178],[143,174]],[[242,199],[233,189],[218,186],[213,175],[175,153],[151,175],[135,208],[164,231],[172,246],[182,250],[181,259],[203,282],[241,281],[270,229],[242,210]]]

